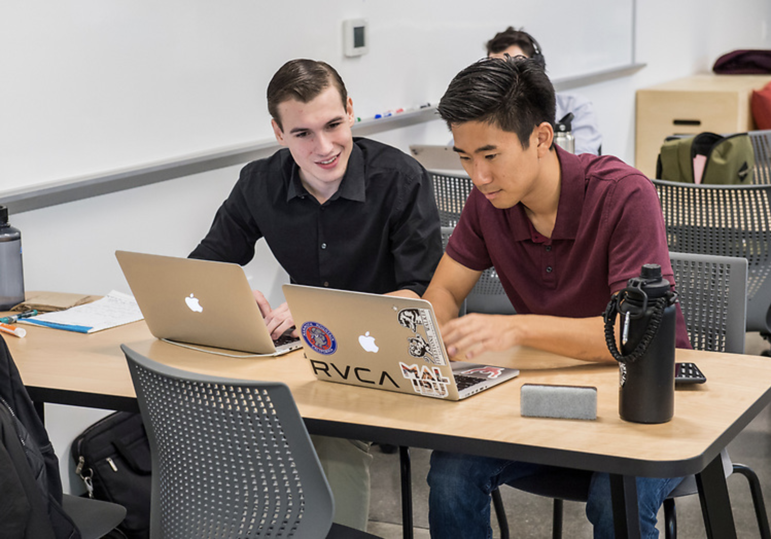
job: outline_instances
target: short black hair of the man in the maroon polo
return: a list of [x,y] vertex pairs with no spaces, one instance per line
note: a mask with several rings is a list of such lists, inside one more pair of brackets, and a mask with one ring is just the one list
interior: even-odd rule
[[554,126],[554,86],[532,59],[486,58],[463,69],[439,101],[447,126],[488,122],[517,133],[523,148],[530,146],[536,126]]

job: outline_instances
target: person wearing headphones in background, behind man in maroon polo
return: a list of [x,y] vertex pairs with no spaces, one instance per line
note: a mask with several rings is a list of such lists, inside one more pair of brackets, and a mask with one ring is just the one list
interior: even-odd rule
[[[532,35],[521,29],[515,30],[509,26],[487,42],[487,58],[503,58],[504,55],[512,58],[525,56],[534,59],[544,70],[546,69],[546,60],[540,45]],[[573,113],[571,132],[575,137],[575,153],[594,153],[595,156],[599,156],[602,136],[597,127],[597,118],[591,101],[569,92],[558,92],[556,95],[557,117],[554,122],[559,122],[568,112]]]

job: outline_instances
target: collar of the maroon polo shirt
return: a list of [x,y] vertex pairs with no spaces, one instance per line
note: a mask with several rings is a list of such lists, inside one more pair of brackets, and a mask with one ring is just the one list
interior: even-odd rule
[[[560,201],[557,206],[557,222],[551,239],[575,239],[578,224],[581,222],[581,210],[584,207],[584,174],[581,162],[570,152],[566,152],[556,144],[557,159],[560,162],[561,185]],[[532,238],[533,228],[527,219],[524,206],[518,203],[509,210],[514,221],[514,239],[525,241]]]

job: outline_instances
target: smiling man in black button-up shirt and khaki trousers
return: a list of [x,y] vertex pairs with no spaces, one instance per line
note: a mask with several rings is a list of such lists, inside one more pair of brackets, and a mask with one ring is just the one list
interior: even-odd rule
[[[292,283],[419,297],[442,256],[429,173],[412,157],[354,139],[353,102],[324,62],[284,64],[268,85],[284,149],[241,170],[192,258],[244,265],[264,238]],[[275,338],[294,326],[286,303],[254,291]],[[335,495],[335,522],[364,530],[369,442],[313,437]]]

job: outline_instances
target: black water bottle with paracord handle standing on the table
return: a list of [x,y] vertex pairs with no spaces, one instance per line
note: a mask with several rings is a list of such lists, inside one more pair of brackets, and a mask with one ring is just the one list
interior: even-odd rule
[[[658,264],[611,298],[605,310],[605,340],[618,360],[618,414],[635,423],[665,423],[675,414],[675,313],[677,294]],[[621,314],[621,350],[615,336]]]

